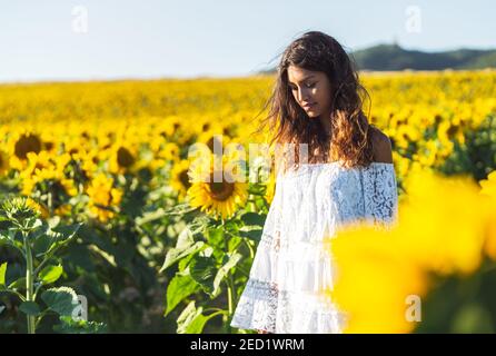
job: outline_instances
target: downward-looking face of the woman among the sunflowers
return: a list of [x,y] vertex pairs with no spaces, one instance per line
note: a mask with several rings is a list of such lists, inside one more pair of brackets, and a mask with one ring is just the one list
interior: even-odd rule
[[325,72],[289,66],[288,81],[296,102],[308,117],[330,116],[331,88]]

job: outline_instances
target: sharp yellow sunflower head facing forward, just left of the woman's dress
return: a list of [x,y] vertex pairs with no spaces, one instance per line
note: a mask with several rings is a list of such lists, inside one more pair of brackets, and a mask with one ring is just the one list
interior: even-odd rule
[[[219,168],[225,167],[219,166],[225,161],[231,164],[230,170]],[[215,218],[226,219],[232,216],[237,207],[242,206],[248,199],[248,184],[240,181],[239,171],[239,166],[232,165],[228,157],[220,159],[211,155],[210,161],[206,159],[196,161],[189,171],[192,181],[187,192],[190,205],[199,207],[201,211]]]

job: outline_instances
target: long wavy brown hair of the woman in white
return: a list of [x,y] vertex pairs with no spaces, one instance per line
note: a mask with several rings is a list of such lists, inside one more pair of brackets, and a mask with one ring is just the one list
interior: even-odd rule
[[[295,66],[326,73],[331,85],[330,135],[320,120],[309,120],[291,95],[288,67]],[[264,110],[270,108],[258,131],[270,126],[270,145],[294,144],[291,159],[299,165],[300,144],[308,146],[309,162],[341,161],[345,167],[368,166],[374,159],[371,131],[378,130],[367,120],[363,100],[370,97],[360,85],[355,62],[333,37],[306,32],[284,51],[277,68],[277,80]],[[287,148],[286,148],[287,149]],[[313,155],[319,151],[323,155]],[[287,151],[282,159],[287,161]],[[285,169],[287,168],[284,165]]]

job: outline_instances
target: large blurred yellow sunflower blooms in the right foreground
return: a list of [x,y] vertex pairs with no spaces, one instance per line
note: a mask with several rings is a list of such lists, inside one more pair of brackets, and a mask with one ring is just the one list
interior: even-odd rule
[[346,315],[346,333],[415,332],[421,318],[413,306],[437,279],[474,276],[495,256],[495,205],[472,179],[417,172],[406,191],[391,229],[357,224],[333,238],[337,278],[327,294]]

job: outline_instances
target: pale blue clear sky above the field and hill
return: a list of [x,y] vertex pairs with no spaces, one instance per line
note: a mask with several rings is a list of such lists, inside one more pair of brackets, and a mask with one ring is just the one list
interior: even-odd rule
[[493,0],[0,0],[0,81],[246,76],[308,30],[349,50],[496,48],[495,13]]

